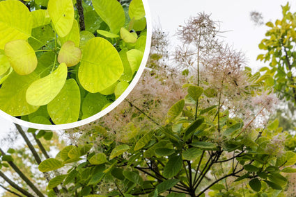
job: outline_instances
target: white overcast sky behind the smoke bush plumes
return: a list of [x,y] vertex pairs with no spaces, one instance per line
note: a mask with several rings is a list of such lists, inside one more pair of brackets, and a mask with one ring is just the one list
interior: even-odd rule
[[[221,31],[228,44],[234,49],[246,53],[249,66],[257,68],[263,63],[256,62],[260,53],[258,44],[267,30],[265,26],[254,26],[249,13],[261,12],[265,22],[281,18],[280,5],[286,5],[284,0],[147,0],[150,6],[150,15],[155,25],[161,24],[162,30],[169,32],[171,50],[178,44],[173,35],[179,25],[184,25],[189,17],[198,12],[211,14],[213,20],[221,22]],[[290,0],[291,11],[295,12],[296,0]],[[0,117],[0,139],[13,128],[13,123]]]

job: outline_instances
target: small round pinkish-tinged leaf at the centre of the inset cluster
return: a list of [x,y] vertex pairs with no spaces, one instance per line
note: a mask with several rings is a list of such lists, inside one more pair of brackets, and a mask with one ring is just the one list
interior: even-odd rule
[[67,67],[72,67],[77,65],[81,59],[81,51],[79,48],[75,47],[75,43],[72,41],[67,41],[61,47],[59,52],[58,61],[59,63],[65,63]]

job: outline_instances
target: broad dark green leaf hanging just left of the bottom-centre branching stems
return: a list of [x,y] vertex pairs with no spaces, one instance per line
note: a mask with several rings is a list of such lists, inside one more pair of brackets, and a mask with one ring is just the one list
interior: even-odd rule
[[179,171],[182,169],[182,155],[171,156],[169,157],[169,161],[166,166],[164,166],[164,177],[172,178],[177,175]]

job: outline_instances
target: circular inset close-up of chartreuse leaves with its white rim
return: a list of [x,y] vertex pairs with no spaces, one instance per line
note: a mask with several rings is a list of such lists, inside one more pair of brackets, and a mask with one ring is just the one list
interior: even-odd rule
[[107,114],[146,65],[146,0],[0,1],[0,114],[66,129]]

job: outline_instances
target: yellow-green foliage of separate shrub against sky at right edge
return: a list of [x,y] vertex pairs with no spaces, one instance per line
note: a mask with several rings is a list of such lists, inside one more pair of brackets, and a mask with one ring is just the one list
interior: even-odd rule
[[259,44],[266,53],[258,55],[257,60],[270,62],[270,67],[260,69],[260,80],[273,85],[281,98],[296,103],[296,12],[290,12],[288,3],[281,7],[283,18],[267,22],[269,30]]

